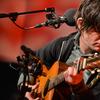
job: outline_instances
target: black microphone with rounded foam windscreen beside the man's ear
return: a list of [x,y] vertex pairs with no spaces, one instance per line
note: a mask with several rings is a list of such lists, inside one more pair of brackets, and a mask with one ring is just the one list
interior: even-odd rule
[[42,26],[53,26],[54,28],[59,28],[61,23],[66,23],[69,26],[75,26],[75,19],[74,19],[75,13],[76,9],[71,8],[67,10],[63,16],[54,19],[49,19],[46,22],[35,25],[34,28],[40,28]]

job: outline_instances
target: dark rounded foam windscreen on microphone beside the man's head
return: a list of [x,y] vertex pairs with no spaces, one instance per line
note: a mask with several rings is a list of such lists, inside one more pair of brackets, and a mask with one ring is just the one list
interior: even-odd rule
[[69,10],[67,10],[64,13],[64,16],[66,18],[66,24],[69,26],[75,26],[75,19],[74,19],[74,15],[76,13],[77,9],[75,8],[71,8]]

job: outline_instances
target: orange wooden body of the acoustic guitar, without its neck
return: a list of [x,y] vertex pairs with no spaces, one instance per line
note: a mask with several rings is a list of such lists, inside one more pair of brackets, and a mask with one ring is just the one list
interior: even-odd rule
[[66,83],[61,82],[61,84],[56,87],[52,86],[52,88],[49,86],[53,78],[65,69],[67,69],[67,66],[59,61],[56,61],[49,70],[43,65],[45,76],[41,75],[37,78],[37,81],[40,82],[38,93],[41,95],[42,100],[65,100],[66,95],[69,93]]

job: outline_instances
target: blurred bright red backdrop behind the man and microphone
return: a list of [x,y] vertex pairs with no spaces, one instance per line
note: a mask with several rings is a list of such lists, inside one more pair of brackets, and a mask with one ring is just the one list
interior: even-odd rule
[[[0,0],[0,13],[26,12],[54,7],[57,15],[63,15],[67,9],[77,8],[80,0]],[[34,26],[46,20],[46,13],[18,16],[16,23],[22,27]],[[16,61],[22,44],[36,50],[51,40],[74,31],[74,27],[62,24],[60,28],[50,27],[22,30],[9,18],[0,18],[0,60]]]

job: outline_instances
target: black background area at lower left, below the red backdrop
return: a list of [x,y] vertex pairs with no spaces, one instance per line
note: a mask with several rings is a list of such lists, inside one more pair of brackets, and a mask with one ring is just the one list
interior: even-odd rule
[[0,61],[0,100],[14,100],[11,98],[18,95],[17,81],[19,71],[11,68],[9,64],[10,62]]

